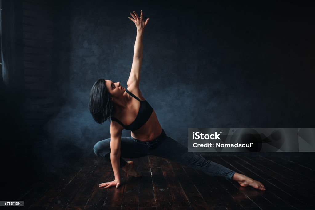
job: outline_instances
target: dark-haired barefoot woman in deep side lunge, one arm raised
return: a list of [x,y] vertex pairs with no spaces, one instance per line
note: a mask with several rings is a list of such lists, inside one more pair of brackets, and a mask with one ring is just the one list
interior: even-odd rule
[[[143,98],[139,89],[140,69],[142,63],[142,39],[144,28],[149,19],[144,21],[141,10],[130,13],[129,17],[137,27],[134,57],[127,89],[119,82],[99,79],[92,87],[89,110],[96,122],[102,123],[109,118],[111,138],[99,141],[94,146],[97,156],[105,158],[112,164],[115,180],[99,186],[109,188],[120,185],[120,168],[127,174],[140,177],[134,169],[133,162],[123,158],[138,158],[155,155],[171,161],[198,169],[213,176],[223,176],[237,181],[241,186],[252,186],[265,190],[263,184],[243,174],[236,173],[220,164],[188,152],[188,148],[168,137],[157,120],[157,115]],[[131,130],[131,137],[121,137],[122,130]]]

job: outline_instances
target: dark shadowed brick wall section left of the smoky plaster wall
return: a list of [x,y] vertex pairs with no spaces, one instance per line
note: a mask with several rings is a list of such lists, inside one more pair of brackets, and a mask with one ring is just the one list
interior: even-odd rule
[[51,115],[53,1],[23,1],[25,129],[38,133]]

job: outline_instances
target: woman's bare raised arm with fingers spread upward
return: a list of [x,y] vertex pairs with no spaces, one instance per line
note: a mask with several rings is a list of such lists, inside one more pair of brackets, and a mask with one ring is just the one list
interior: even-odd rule
[[143,31],[146,27],[146,24],[149,21],[149,18],[146,19],[146,21],[143,20],[143,12],[141,10],[140,17],[138,14],[134,11],[135,14],[130,13],[130,15],[133,17],[128,17],[130,20],[132,20],[136,27],[137,27],[137,36],[135,41],[135,49],[134,49],[134,58],[131,65],[131,71],[129,75],[129,79],[127,81],[127,86],[135,85],[139,87],[140,83],[140,69],[142,64],[142,51],[143,51]]

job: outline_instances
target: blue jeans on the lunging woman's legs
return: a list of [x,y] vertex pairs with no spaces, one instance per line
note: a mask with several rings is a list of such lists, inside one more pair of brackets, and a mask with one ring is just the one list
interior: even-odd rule
[[[111,139],[99,141],[94,146],[95,155],[105,158],[111,162],[110,147]],[[174,139],[168,137],[164,130],[156,139],[152,141],[140,141],[132,137],[122,137],[120,143],[120,167],[124,167],[127,162],[122,158],[139,158],[147,155],[160,156],[179,164],[203,171],[211,176],[221,176],[232,179],[235,171],[232,171],[218,163],[204,159],[188,152],[188,148],[181,145]]]

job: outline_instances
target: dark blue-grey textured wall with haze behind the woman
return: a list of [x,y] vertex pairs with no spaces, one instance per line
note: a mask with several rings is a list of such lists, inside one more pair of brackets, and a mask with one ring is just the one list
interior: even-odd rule
[[[189,127],[314,127],[310,2],[56,2],[54,144],[86,150],[110,137],[88,111],[99,78],[127,87],[136,37],[129,12],[150,18],[140,89],[166,133]],[[123,131],[123,136],[130,136]]]

